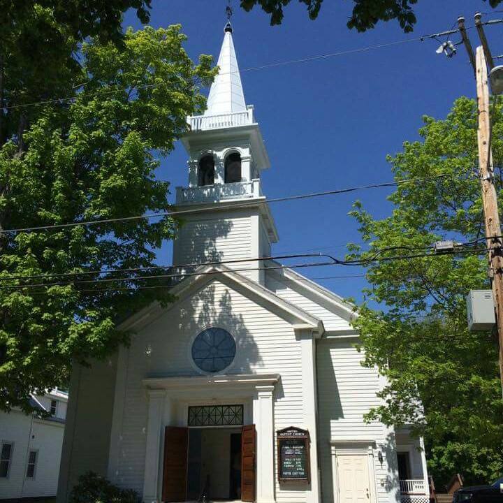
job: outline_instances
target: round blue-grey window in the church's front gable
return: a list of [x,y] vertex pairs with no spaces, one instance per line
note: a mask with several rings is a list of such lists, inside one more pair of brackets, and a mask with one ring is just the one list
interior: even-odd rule
[[206,328],[192,344],[192,359],[204,372],[220,372],[235,356],[234,337],[223,328]]

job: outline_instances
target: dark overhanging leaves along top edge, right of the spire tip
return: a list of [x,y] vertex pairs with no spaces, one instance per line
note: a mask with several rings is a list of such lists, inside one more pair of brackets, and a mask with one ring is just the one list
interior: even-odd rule
[[[318,17],[323,0],[298,0],[307,7],[309,17]],[[486,1],[486,0],[483,0]],[[502,0],[489,0],[491,7],[496,7]],[[283,9],[291,0],[241,0],[242,8],[251,10],[258,5],[270,14],[271,24],[281,24],[284,17]],[[380,21],[397,20],[400,27],[407,33],[414,29],[416,15],[414,5],[418,0],[353,0],[353,13],[347,22],[347,27],[358,31],[372,29]]]

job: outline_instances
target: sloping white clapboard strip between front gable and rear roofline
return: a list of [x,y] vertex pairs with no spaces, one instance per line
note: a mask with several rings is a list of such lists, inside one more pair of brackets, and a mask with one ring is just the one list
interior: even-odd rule
[[330,311],[327,307],[323,307],[312,298],[308,298],[296,291],[295,284],[291,280],[285,278],[284,282],[280,282],[275,278],[274,273],[272,275],[266,274],[265,286],[276,293],[277,296],[300,307],[300,309],[304,309],[305,312],[323,321],[326,330],[351,329],[349,322],[343,319],[339,314]]

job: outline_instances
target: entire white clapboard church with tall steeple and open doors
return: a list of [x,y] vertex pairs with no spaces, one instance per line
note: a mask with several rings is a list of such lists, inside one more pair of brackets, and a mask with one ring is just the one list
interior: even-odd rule
[[360,365],[353,306],[257,260],[278,236],[230,24],[218,65],[207,111],[182,140],[177,300],[122,323],[131,345],[110,360],[75,367],[58,500],[92,469],[145,503],[204,490],[258,503],[428,503],[421,439],[363,420],[384,381]]

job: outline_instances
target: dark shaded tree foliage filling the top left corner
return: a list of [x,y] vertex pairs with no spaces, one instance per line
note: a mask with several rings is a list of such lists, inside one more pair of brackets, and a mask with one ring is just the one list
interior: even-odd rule
[[80,45],[89,36],[122,43],[122,14],[149,20],[151,0],[0,0],[0,145],[27,129],[34,101],[73,96]]

